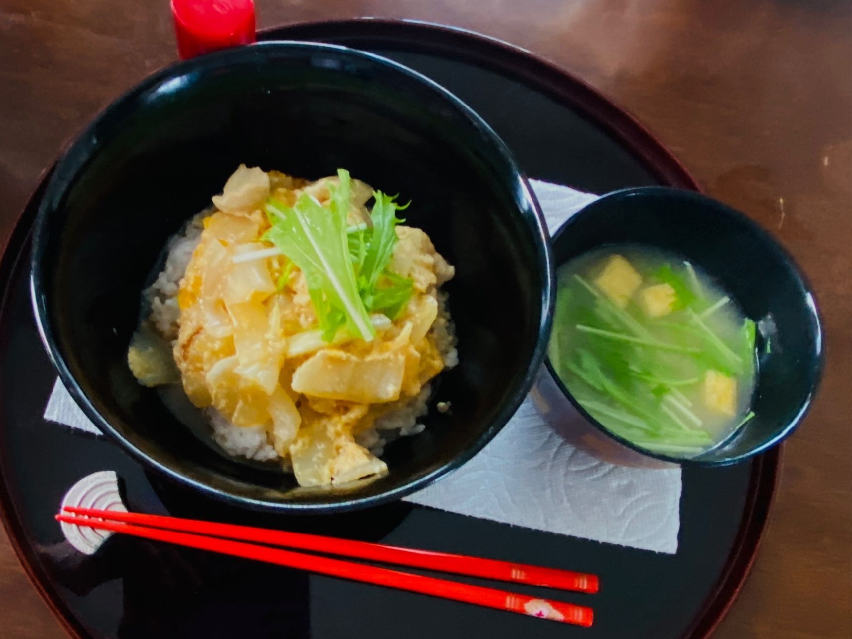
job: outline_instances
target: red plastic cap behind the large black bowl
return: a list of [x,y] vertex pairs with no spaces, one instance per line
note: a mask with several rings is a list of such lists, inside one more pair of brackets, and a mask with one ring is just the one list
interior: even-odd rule
[[255,41],[254,0],[171,0],[181,60]]

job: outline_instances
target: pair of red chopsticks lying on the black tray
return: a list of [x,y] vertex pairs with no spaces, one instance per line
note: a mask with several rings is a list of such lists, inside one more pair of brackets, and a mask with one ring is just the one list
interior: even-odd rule
[[423,595],[452,599],[457,602],[472,603],[477,606],[497,608],[498,610],[508,610],[512,613],[552,619],[566,624],[588,627],[592,625],[594,619],[594,613],[590,607],[577,606],[573,603],[555,602],[506,590],[460,584],[447,579],[403,573],[399,570],[343,561],[342,559],[305,555],[292,550],[273,548],[272,546],[314,550],[329,555],[348,556],[368,561],[381,561],[399,564],[400,566],[427,568],[445,573],[498,579],[516,584],[530,584],[589,594],[596,593],[598,590],[598,579],[593,574],[573,573],[567,570],[529,566],[511,561],[399,548],[305,533],[289,533],[267,528],[222,524],[213,521],[196,521],[178,517],[142,515],[72,506],[66,506],[65,511],[56,515],[56,519],[78,526],[109,530],[189,548],[210,550],[222,555],[265,561],[279,566],[307,570],[312,573],[353,579],[354,581],[383,585],[398,590],[409,590]]

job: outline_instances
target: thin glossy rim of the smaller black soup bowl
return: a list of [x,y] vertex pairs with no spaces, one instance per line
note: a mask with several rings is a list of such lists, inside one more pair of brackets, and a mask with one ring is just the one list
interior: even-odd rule
[[[556,243],[561,239],[563,233],[566,233],[567,230],[570,229],[571,225],[578,220],[588,217],[594,216],[596,210],[601,206],[607,206],[611,204],[615,200],[621,200],[626,198],[636,198],[642,196],[665,196],[668,198],[681,198],[683,202],[686,204],[710,204],[713,209],[715,209],[714,214],[724,214],[727,215],[728,218],[734,220],[735,222],[739,222],[744,224],[746,227],[749,227],[751,231],[755,232],[757,237],[761,238],[764,244],[768,245],[770,250],[774,250],[774,252],[779,256],[787,265],[791,268],[793,275],[797,281],[799,289],[804,292],[805,296],[809,296],[811,300],[813,300],[813,304],[806,304],[811,309],[815,320],[815,336],[816,343],[819,344],[818,354],[816,359],[816,366],[814,371],[814,383],[811,384],[811,388],[809,390],[808,396],[803,401],[802,405],[799,406],[798,411],[795,416],[792,417],[786,423],[786,426],[780,430],[780,432],[775,435],[770,440],[764,441],[760,446],[755,446],[748,452],[743,452],[740,455],[735,455],[730,458],[724,458],[719,460],[706,460],[701,459],[700,456],[698,458],[678,458],[673,457],[671,455],[665,455],[659,452],[651,452],[645,448],[640,446],[636,446],[636,444],[632,443],[630,440],[621,437],[620,435],[616,435],[609,429],[607,429],[606,425],[601,423],[595,417],[592,417],[591,414],[586,411],[583,406],[580,406],[579,402],[574,399],[573,394],[567,389],[565,383],[562,382],[561,377],[556,374],[556,370],[553,365],[550,363],[550,354],[544,355],[544,367],[547,369],[548,374],[550,375],[550,379],[553,383],[556,384],[556,388],[559,389],[562,397],[568,400],[574,409],[579,412],[579,414],[585,419],[587,423],[590,423],[592,427],[594,427],[597,431],[606,435],[608,438],[618,442],[622,446],[630,449],[633,452],[637,452],[644,457],[657,459],[661,462],[675,463],[678,466],[692,466],[699,468],[718,468],[722,466],[730,466],[734,463],[744,462],[747,459],[750,459],[762,452],[768,451],[773,446],[779,445],[781,442],[786,440],[787,437],[792,435],[792,433],[798,428],[798,426],[803,422],[803,419],[810,412],[811,406],[814,404],[814,399],[817,394],[817,391],[820,388],[820,383],[822,382],[823,372],[825,371],[826,364],[826,349],[824,344],[824,330],[823,330],[823,321],[822,315],[820,314],[819,304],[816,302],[816,295],[814,292],[813,286],[810,284],[809,279],[803,273],[803,270],[798,266],[798,263],[793,258],[788,250],[784,248],[780,244],[780,242],[766,230],[760,224],[751,219],[751,217],[747,216],[740,210],[734,209],[734,207],[729,206],[728,204],[724,204],[723,202],[713,199],[708,195],[703,193],[698,193],[695,191],[688,191],[687,189],[675,188],[675,187],[627,187],[621,188],[616,191],[611,191],[610,193],[606,193],[602,195],[600,198],[596,199],[590,204],[586,204],[582,209],[577,211],[573,216],[569,217],[566,222],[562,223],[559,228],[556,229],[556,233],[553,234],[553,237],[550,239],[551,244],[551,255],[556,253]],[[564,262],[562,262],[564,263]],[[560,264],[556,264],[556,257],[554,257],[554,268],[558,269],[561,266]],[[554,297],[556,297],[556,283],[554,284],[555,293]],[[551,331],[555,330],[555,326],[551,325]],[[548,346],[550,345],[550,337],[548,337]],[[739,429],[734,430],[736,433]],[[733,436],[734,433],[731,433],[730,436]],[[721,443],[719,444],[721,445]],[[717,445],[717,446],[719,446]],[[703,454],[703,453],[702,453]]]

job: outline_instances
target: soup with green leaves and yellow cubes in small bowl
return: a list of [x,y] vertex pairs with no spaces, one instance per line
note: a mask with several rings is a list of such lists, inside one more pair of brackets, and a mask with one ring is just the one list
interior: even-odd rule
[[737,302],[682,257],[607,245],[559,268],[549,356],[607,429],[690,458],[753,417],[755,332]]

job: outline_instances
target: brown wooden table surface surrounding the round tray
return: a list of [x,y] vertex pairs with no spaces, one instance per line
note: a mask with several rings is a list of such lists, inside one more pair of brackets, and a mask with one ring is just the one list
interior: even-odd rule
[[[259,26],[412,18],[503,38],[636,114],[815,285],[820,396],[784,452],[769,531],[720,637],[852,636],[849,0],[256,0]],[[0,0],[0,239],[41,170],[175,58],[166,0]],[[64,636],[0,533],[0,636]]]

